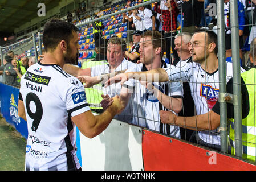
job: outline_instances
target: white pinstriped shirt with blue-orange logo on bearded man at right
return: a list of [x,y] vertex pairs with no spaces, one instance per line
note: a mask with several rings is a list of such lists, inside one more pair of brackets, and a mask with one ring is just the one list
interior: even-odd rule
[[[208,113],[218,100],[219,94],[219,72],[205,72],[197,63],[186,63],[181,68],[166,68],[169,80],[188,81],[191,95],[194,99],[197,115]],[[241,68],[241,72],[245,70]],[[233,77],[232,63],[226,62],[226,82]],[[198,136],[206,143],[220,145],[220,135],[213,132],[198,131]]]

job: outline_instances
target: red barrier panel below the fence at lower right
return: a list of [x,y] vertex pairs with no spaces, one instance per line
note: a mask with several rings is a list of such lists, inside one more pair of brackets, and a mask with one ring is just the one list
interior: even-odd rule
[[143,130],[145,171],[164,170],[256,170],[256,166],[234,156],[205,150],[181,140]]

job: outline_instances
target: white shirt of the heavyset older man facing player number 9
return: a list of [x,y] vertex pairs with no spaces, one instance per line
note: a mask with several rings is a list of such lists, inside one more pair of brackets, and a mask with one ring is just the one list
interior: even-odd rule
[[[131,61],[127,61],[124,59],[122,63],[115,69],[115,71],[122,71],[128,68],[136,67],[135,63],[132,63]],[[104,75],[110,73],[110,65],[109,64],[102,64],[102,65],[96,65],[95,67],[91,68],[91,77]],[[106,81],[106,80],[105,80]],[[103,83],[104,84],[104,83]],[[121,84],[112,84],[107,86],[107,88],[100,87],[98,89],[102,89],[104,94],[108,94],[110,97],[115,97],[116,95],[120,94],[121,91]],[[115,119],[118,119],[120,121],[132,122],[132,100],[130,99],[127,106],[125,107],[124,111],[120,114],[115,115]]]

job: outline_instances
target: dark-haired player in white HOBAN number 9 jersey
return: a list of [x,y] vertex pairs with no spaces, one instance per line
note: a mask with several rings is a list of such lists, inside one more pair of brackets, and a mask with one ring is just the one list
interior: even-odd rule
[[[76,127],[88,138],[104,131],[124,106],[119,97],[104,113],[94,116],[82,83],[63,71],[80,49],[78,28],[59,19],[44,26],[43,59],[21,78],[19,117],[27,121],[26,170],[79,170]],[[75,127],[76,125],[76,127]]]

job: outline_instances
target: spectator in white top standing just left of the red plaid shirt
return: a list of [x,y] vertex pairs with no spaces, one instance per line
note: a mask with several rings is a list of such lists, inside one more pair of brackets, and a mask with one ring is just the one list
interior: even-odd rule
[[141,20],[143,22],[144,31],[156,30],[155,23],[156,18],[153,16],[152,11],[147,9],[147,7],[141,6],[138,10]]

